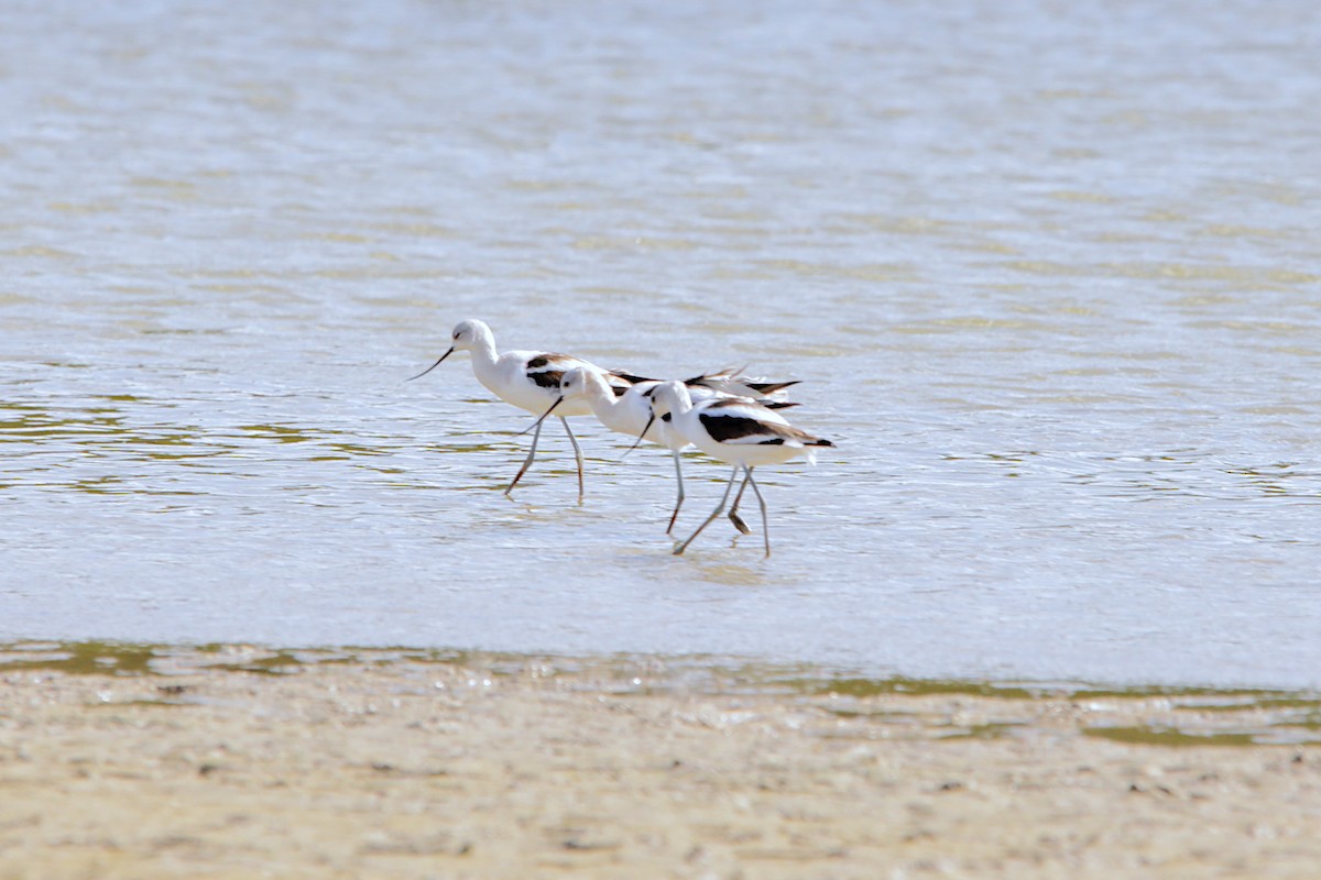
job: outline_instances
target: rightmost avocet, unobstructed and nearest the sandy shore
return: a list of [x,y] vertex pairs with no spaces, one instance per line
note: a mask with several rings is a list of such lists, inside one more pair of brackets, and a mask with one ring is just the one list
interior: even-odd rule
[[761,505],[761,528],[769,557],[770,526],[766,522],[766,500],[761,496],[752,470],[761,464],[779,464],[795,455],[807,455],[807,459],[812,460],[816,447],[834,443],[794,427],[783,416],[749,400],[716,397],[694,402],[683,383],[660,383],[651,389],[650,396],[655,414],[662,418],[670,414],[670,424],[675,431],[707,455],[734,466],[720,504],[687,541],[674,549],[675,555],[687,550],[692,540],[725,509],[729,492],[738,480],[738,471],[742,470],[746,475],[745,483],[752,484]]

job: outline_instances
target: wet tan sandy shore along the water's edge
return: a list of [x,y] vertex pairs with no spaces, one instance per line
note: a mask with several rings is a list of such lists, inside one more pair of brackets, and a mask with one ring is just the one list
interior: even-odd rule
[[292,657],[0,657],[0,880],[1321,876],[1308,699]]

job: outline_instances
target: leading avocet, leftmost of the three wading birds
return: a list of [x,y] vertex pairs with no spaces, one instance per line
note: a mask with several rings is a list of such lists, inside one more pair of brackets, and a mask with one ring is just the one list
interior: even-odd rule
[[[453,344],[449,347],[449,351],[443,354],[440,360],[431,367],[412,376],[412,379],[421,379],[456,351],[469,351],[473,355],[473,375],[477,376],[477,381],[506,404],[513,404],[536,416],[544,413],[546,408],[560,397],[560,379],[568,369],[583,368],[597,373],[606,384],[618,388],[618,393],[622,393],[633,384],[629,379],[616,376],[573,355],[557,355],[547,351],[506,351],[503,355],[498,355],[495,352],[495,335],[481,321],[460,322],[454,327],[452,338]],[[573,445],[573,458],[577,460],[579,501],[583,500],[583,450],[579,447],[577,438],[573,437],[573,430],[565,420],[572,416],[589,414],[592,414],[592,406],[587,401],[580,400],[560,406],[557,412],[560,424],[564,425],[564,433],[569,435],[569,443]],[[542,422],[538,421],[536,433],[532,434],[532,449],[527,451],[523,466],[518,468],[518,474],[514,475],[514,482],[505,489],[505,495],[514,491],[518,482],[523,479],[523,474],[531,467],[532,459],[536,456],[536,442],[540,437]]]

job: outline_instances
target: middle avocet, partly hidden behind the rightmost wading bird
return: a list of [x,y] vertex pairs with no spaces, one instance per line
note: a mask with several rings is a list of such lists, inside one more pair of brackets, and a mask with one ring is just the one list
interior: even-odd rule
[[[651,401],[646,397],[646,392],[659,385],[660,381],[643,379],[642,376],[629,376],[629,379],[634,380],[633,385],[621,393],[618,388],[609,385],[598,372],[592,372],[583,367],[565,371],[564,377],[560,379],[560,397],[551,404],[550,409],[542,413],[542,418],[556,412],[563,404],[585,400],[597,420],[612,431],[637,437],[639,442],[647,439],[668,449],[674,455],[674,474],[679,482],[679,496],[674,504],[674,513],[670,515],[670,525],[664,530],[666,534],[670,534],[674,529],[674,521],[679,516],[679,508],[683,507],[684,497],[683,464],[679,451],[690,443],[686,437],[671,427],[668,420],[657,420],[653,417]],[[744,376],[742,371],[738,369],[727,369],[719,373],[696,376],[683,384],[688,388],[688,394],[692,398],[707,400],[729,396],[715,391],[716,388],[774,394],[798,383],[770,383]],[[764,402],[768,406],[778,408],[794,405],[770,400],[764,400]],[[738,516],[737,508],[738,503],[736,501],[733,509],[729,511],[729,521],[744,534],[750,534],[750,529]]]

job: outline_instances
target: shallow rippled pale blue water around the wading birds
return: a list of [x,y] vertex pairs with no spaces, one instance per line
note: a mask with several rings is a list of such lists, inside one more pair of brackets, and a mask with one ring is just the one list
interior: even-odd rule
[[[13,12],[0,639],[1318,686],[1321,18],[985,5]],[[506,500],[468,317],[840,449]]]

